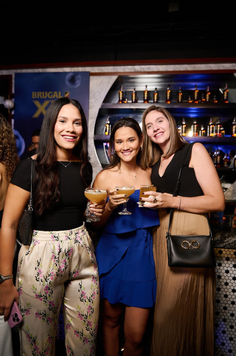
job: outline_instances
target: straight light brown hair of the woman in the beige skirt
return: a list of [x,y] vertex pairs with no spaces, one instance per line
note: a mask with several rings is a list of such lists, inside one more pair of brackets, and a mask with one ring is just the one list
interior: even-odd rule
[[162,150],[159,145],[154,143],[148,136],[147,136],[147,129],[145,125],[145,119],[147,114],[151,111],[161,112],[169,121],[170,123],[170,145],[168,151],[163,155],[163,157],[169,157],[173,155],[173,153],[180,150],[187,142],[185,139],[180,136],[178,128],[176,126],[176,122],[174,117],[170,114],[169,111],[162,108],[161,106],[151,105],[147,108],[142,114],[142,133],[144,135],[144,148],[143,154],[141,157],[141,165],[143,167],[150,167],[153,166],[156,162],[159,161],[162,155]]

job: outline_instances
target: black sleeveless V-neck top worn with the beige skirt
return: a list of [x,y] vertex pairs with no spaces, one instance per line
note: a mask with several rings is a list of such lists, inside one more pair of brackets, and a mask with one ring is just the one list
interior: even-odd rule
[[[179,177],[180,164],[185,156],[188,145],[190,145],[190,143],[186,143],[185,146],[174,154],[162,177],[159,176],[160,160],[152,167],[151,182],[157,187],[157,192],[174,193]],[[189,167],[191,153],[192,147],[190,147],[180,175],[180,186],[177,195],[183,197],[198,197],[204,195],[197,182],[194,169]]]

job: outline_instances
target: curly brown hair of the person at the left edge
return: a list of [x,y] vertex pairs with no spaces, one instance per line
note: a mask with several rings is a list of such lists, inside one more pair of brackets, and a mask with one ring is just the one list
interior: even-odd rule
[[0,114],[0,162],[5,167],[5,176],[11,178],[19,162],[19,156],[11,125],[2,114]]

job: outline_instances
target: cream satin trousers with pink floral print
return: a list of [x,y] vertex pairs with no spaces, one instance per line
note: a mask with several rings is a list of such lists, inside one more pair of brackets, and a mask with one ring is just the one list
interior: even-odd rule
[[21,355],[55,355],[62,304],[68,356],[96,354],[99,277],[94,246],[85,226],[33,231],[18,256],[16,287],[23,321]]

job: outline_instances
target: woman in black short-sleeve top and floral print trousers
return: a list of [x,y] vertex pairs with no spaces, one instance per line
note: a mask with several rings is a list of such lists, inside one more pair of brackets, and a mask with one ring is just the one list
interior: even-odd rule
[[[94,248],[85,228],[92,181],[88,129],[77,100],[60,98],[47,109],[37,155],[21,160],[7,191],[0,230],[0,273],[11,276],[19,219],[33,182],[33,234],[18,255],[16,287],[0,284],[0,310],[6,321],[14,300],[23,321],[21,355],[55,355],[58,315],[63,305],[66,353],[95,355],[99,317],[99,278]],[[101,215],[105,201],[89,204]]]

